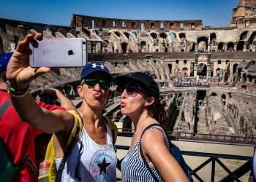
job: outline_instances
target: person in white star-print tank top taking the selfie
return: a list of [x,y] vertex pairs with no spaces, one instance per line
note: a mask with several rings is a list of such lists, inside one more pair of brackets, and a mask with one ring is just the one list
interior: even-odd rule
[[44,132],[55,133],[59,141],[57,150],[48,149],[54,160],[45,177],[49,181],[116,181],[115,138],[102,117],[112,81],[108,68],[101,63],[89,63],[83,68],[78,87],[82,104],[78,112],[46,111],[29,94],[29,83],[50,71],[50,68],[29,66],[29,43],[34,39],[41,40],[42,34],[29,34],[18,44],[7,66],[7,79],[10,98],[20,118]]

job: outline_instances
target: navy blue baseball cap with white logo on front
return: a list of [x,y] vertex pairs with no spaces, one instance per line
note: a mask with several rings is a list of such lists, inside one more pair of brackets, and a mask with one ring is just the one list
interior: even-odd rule
[[80,80],[82,81],[82,79],[84,79],[86,76],[89,76],[90,74],[92,74],[94,72],[102,72],[103,74],[105,74],[107,76],[107,78],[110,82],[113,80],[113,77],[111,76],[108,68],[99,62],[86,64],[86,66],[84,66],[83,71],[81,73]]

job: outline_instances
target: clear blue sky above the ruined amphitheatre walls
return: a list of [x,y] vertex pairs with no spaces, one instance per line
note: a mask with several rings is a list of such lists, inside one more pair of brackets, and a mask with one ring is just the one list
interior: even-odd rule
[[227,27],[238,0],[0,0],[0,17],[70,25],[72,14],[132,20],[203,20]]

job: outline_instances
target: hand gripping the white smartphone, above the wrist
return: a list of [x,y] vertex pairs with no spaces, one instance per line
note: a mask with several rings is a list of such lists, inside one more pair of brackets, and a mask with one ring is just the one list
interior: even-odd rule
[[25,39],[18,44],[7,65],[7,79],[15,89],[26,89],[33,79],[50,71],[50,68],[46,67],[29,66],[29,43],[33,39],[42,40],[42,33],[26,35]]

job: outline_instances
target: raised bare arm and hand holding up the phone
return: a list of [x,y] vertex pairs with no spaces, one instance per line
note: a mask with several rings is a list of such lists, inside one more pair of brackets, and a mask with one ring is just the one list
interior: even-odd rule
[[27,92],[29,83],[41,74],[48,73],[50,68],[31,68],[29,66],[29,42],[41,40],[42,34],[27,35],[20,41],[7,66],[7,79],[10,82],[10,97],[21,119],[44,132],[67,132],[72,128],[74,118],[67,111],[46,111],[37,106],[34,98]]

